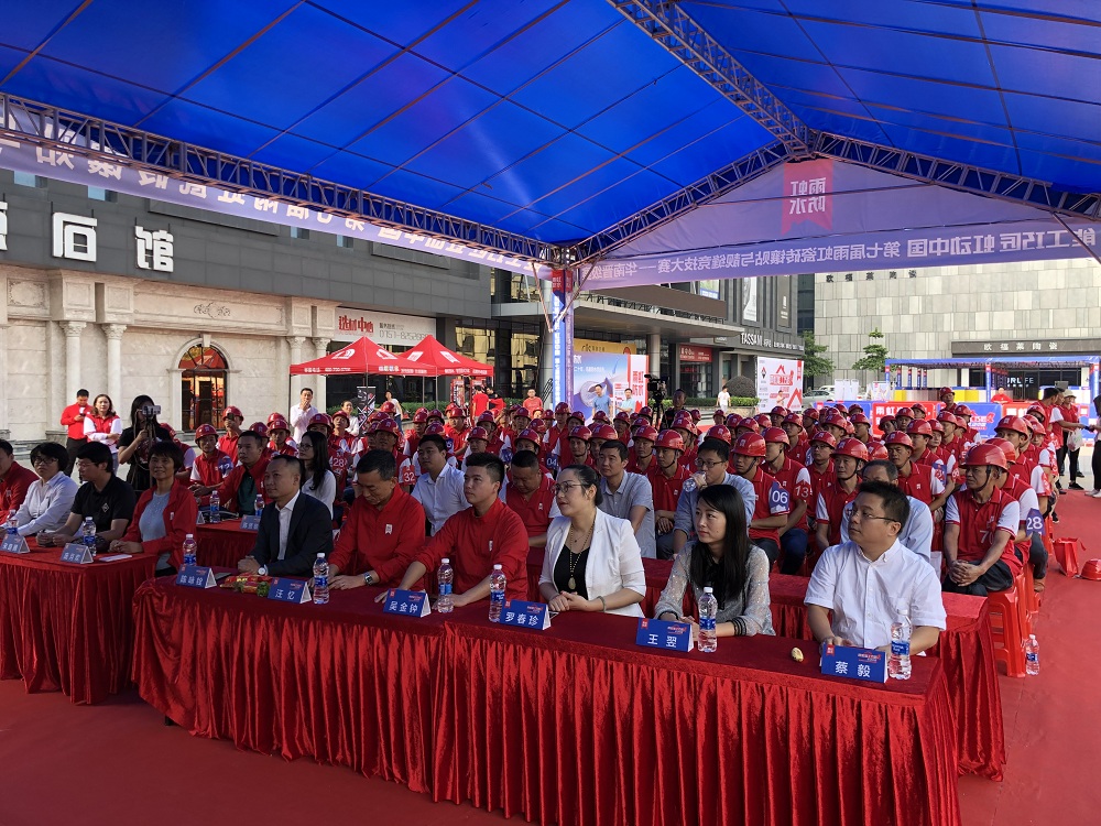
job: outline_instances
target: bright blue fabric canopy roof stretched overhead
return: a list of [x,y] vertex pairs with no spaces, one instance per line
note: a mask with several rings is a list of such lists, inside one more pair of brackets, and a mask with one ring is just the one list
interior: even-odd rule
[[[1101,3],[680,8],[811,129],[1101,189]],[[607,0],[6,0],[0,93],[556,244],[775,142]]]

